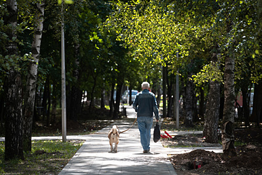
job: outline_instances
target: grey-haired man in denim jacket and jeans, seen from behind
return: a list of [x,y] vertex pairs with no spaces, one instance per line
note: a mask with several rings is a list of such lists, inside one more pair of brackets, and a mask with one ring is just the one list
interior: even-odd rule
[[137,112],[140,142],[145,153],[150,150],[150,129],[153,124],[153,113],[156,121],[158,121],[159,115],[155,95],[149,91],[149,83],[143,82],[141,87],[142,91],[137,93],[134,98],[133,108]]

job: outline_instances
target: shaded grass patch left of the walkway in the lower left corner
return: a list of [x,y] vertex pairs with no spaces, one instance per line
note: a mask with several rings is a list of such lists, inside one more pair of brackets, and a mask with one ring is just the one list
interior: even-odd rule
[[4,160],[4,142],[0,142],[0,173],[58,174],[82,145],[82,140],[32,141],[32,151],[24,153],[24,160]]

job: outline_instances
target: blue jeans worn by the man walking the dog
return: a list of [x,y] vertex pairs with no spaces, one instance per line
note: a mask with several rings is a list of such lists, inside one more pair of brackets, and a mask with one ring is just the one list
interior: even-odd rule
[[150,149],[151,127],[153,124],[153,117],[139,116],[137,117],[138,129],[140,131],[140,142],[143,150]]

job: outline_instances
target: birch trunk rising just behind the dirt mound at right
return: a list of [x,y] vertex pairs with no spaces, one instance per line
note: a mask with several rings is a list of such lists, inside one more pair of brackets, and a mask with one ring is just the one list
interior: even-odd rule
[[224,67],[224,110],[222,124],[222,146],[226,156],[235,156],[233,136],[234,122],[234,58],[225,57]]

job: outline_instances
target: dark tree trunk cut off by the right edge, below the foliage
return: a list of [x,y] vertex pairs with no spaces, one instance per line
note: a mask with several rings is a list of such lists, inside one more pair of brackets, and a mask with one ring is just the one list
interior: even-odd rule
[[252,118],[256,126],[262,121],[262,82],[254,84],[254,98],[253,98],[253,111]]

